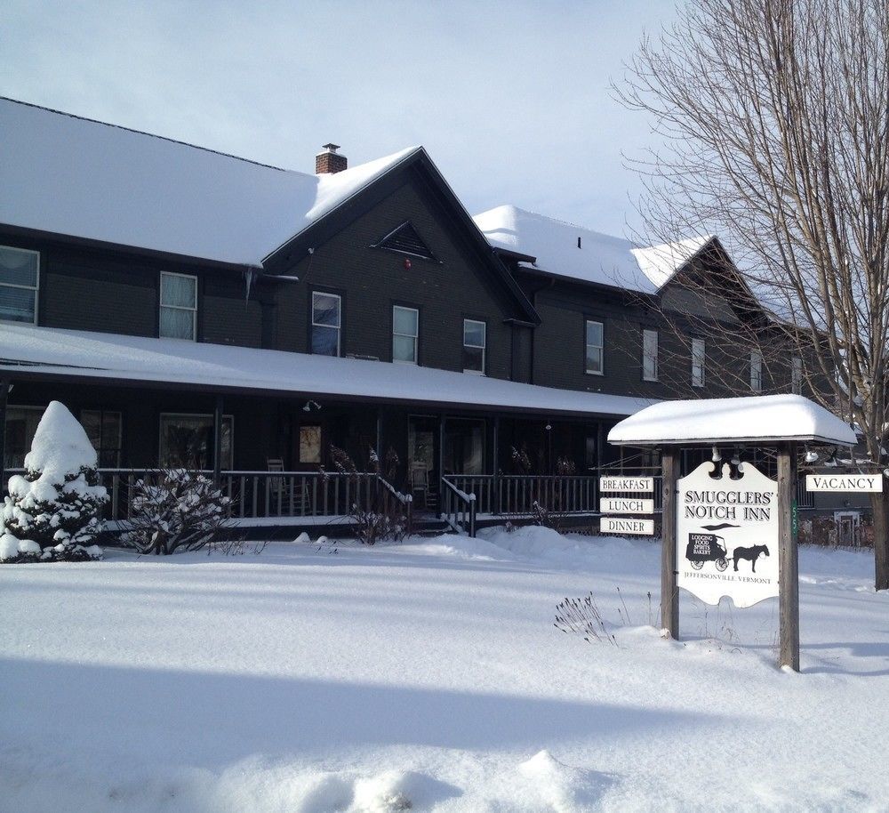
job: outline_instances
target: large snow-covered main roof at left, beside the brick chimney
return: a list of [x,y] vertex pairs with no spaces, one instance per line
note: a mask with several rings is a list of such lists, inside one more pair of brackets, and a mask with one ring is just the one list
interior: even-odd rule
[[421,147],[310,175],[0,98],[0,223],[259,264]]

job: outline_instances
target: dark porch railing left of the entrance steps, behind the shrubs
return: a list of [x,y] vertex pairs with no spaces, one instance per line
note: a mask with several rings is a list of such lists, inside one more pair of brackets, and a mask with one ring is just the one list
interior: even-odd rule
[[[212,471],[195,473],[212,476]],[[126,520],[132,516],[136,482],[156,479],[158,471],[100,469],[99,476],[109,496],[103,519]],[[412,522],[412,496],[370,471],[324,475],[318,471],[223,471],[220,488],[231,498],[232,519],[346,518],[354,505],[359,511],[404,511],[409,527]]]

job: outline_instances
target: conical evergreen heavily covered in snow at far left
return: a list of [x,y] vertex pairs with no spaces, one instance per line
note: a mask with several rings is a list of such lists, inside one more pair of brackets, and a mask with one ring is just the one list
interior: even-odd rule
[[25,455],[25,473],[9,479],[0,511],[0,561],[102,558],[91,543],[108,493],[96,464],[84,428],[64,404],[52,401]]

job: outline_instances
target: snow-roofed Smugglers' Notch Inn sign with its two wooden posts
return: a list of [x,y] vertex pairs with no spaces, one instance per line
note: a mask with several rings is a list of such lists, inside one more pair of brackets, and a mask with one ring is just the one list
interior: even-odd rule
[[[780,665],[799,671],[797,453],[800,445],[855,444],[836,415],[798,395],[662,401],[618,423],[619,446],[659,448],[663,472],[661,626],[679,637],[679,589],[707,604],[747,608],[778,598]],[[777,479],[741,462],[757,448]],[[691,452],[711,459],[680,477]],[[733,450],[731,463],[720,450]]]

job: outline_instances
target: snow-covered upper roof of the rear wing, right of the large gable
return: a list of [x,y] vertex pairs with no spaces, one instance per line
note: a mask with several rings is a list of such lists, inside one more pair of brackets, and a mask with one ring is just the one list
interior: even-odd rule
[[644,294],[657,293],[712,239],[691,237],[661,246],[637,246],[511,205],[489,209],[474,220],[492,246],[534,257],[532,268]]

